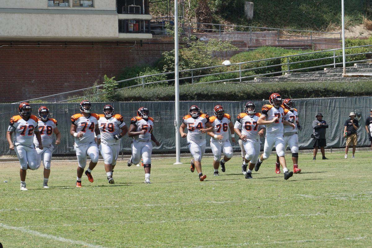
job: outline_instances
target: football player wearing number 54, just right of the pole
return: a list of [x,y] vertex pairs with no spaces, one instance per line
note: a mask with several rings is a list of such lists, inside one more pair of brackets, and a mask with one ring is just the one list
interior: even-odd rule
[[[193,105],[189,109],[190,115],[183,117],[183,122],[180,126],[180,135],[182,138],[187,137],[187,145],[189,146],[190,153],[193,159],[190,162],[190,171],[199,173],[199,180],[204,181],[207,177],[202,173],[202,157],[205,152],[205,133],[211,132],[213,127],[209,121],[209,116],[203,114],[199,107]],[[187,133],[183,131],[187,128]]]

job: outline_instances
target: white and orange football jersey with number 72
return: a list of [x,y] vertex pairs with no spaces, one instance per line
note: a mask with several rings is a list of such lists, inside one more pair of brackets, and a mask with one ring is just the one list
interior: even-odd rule
[[9,132],[14,132],[14,145],[33,146],[33,132],[38,128],[38,117],[31,115],[24,120],[20,115],[10,118]]

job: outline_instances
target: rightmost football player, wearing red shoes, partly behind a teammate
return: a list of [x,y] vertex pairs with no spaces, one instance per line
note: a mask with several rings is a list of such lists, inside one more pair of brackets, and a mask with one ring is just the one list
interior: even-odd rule
[[[293,173],[300,173],[301,169],[298,168],[298,135],[297,132],[302,130],[302,126],[298,122],[298,112],[295,109],[294,102],[287,98],[283,101],[283,106],[285,109],[288,109],[287,114],[285,115],[285,120],[288,122],[294,123],[296,125],[295,129],[292,129],[291,126],[284,126],[284,150],[291,149],[292,152],[292,161],[293,161]],[[275,173],[280,173],[280,162],[279,157],[276,155],[275,163]]]

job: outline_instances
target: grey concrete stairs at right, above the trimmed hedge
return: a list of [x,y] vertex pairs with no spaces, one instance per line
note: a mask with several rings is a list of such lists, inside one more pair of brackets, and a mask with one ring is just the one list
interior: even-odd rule
[[[337,82],[337,81],[364,81],[372,80],[371,77],[342,77],[343,68],[324,68],[323,71],[309,73],[286,73],[278,77],[256,77],[255,83],[285,83],[285,82]],[[346,73],[371,73],[372,63],[354,64],[347,67]]]

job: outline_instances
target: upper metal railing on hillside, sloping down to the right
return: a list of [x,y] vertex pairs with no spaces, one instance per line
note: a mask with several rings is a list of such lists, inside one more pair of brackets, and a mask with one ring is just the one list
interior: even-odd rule
[[[166,23],[172,23],[171,20],[164,19],[152,19],[151,32],[154,35],[167,34]],[[200,26],[209,26],[215,28],[201,28]],[[195,28],[195,26],[197,26]],[[236,30],[240,29],[240,30]],[[233,34],[232,34],[233,33]],[[291,34],[292,33],[292,34]],[[263,40],[270,42],[270,44],[264,45],[280,45],[283,42],[290,42],[292,44],[304,44],[314,46],[315,44],[324,45],[337,45],[341,46],[340,39],[341,33],[338,32],[321,32],[312,30],[298,30],[298,29],[279,29],[279,28],[263,28],[254,26],[239,26],[239,25],[225,25],[225,24],[214,24],[214,23],[198,23],[198,22],[186,22],[183,23],[182,35],[202,35],[211,38],[218,39],[229,39],[238,38],[247,40],[251,43],[256,40]],[[320,34],[327,34],[330,36],[337,35],[337,37],[324,37],[319,36]],[[265,36],[265,37],[260,37]],[[296,40],[297,39],[297,40]],[[321,40],[328,39],[330,42],[322,42]],[[253,42],[252,42],[253,41]]]

